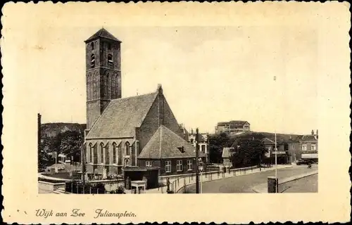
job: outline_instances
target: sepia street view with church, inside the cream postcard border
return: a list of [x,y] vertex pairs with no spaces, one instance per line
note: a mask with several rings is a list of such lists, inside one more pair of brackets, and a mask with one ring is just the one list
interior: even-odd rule
[[[61,48],[77,56],[70,58],[77,61],[70,76],[85,82],[70,98],[84,101],[85,109],[77,102],[54,117],[40,105],[48,113],[38,113],[39,193],[318,192],[318,36],[314,29],[294,28],[96,27],[83,40],[83,32],[73,31]],[[260,39],[264,32],[269,41]],[[158,40],[153,51],[144,51],[150,49],[145,39]],[[203,55],[188,59],[194,51]],[[221,53],[236,60],[222,61]],[[145,75],[124,63],[154,69],[160,81],[169,81],[142,93],[148,89],[138,81]],[[162,72],[167,66],[170,72]],[[63,73],[52,75],[73,86]],[[130,73],[134,84],[125,82]],[[219,80],[207,86],[192,79],[211,76]],[[154,80],[146,80],[148,87]],[[260,102],[265,104],[256,113],[264,120],[253,115]],[[70,115],[75,121],[65,121]]]

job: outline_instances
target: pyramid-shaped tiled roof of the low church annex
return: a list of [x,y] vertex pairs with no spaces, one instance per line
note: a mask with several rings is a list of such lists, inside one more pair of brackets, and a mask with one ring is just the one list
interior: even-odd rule
[[[204,153],[199,156],[205,157]],[[194,158],[196,148],[167,127],[161,125],[139,154],[139,159]]]

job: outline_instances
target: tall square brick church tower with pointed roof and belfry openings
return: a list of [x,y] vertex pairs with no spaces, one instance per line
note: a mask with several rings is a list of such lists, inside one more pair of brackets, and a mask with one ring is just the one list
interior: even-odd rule
[[101,28],[86,45],[87,130],[112,99],[121,98],[121,41]]

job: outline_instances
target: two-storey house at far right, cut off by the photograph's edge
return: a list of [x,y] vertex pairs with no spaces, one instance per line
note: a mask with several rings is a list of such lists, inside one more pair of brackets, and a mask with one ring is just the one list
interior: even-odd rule
[[300,141],[301,158],[318,161],[318,130],[317,134],[304,135]]

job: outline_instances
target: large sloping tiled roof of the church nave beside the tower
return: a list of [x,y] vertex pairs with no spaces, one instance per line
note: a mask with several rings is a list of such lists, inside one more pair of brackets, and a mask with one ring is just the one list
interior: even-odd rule
[[157,95],[158,91],[112,100],[96,120],[86,139],[133,137],[135,128],[141,127]]

